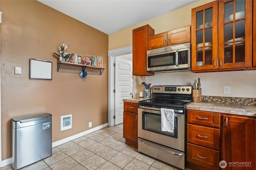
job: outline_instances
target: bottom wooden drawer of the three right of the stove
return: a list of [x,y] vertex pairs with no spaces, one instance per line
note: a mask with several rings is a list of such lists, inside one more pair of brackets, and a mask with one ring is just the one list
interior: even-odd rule
[[187,161],[207,170],[217,170],[220,169],[220,152],[188,143]]

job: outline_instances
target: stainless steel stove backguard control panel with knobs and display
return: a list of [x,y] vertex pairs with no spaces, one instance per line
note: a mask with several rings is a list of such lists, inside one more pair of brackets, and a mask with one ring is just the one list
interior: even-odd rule
[[153,93],[192,94],[192,86],[153,86]]

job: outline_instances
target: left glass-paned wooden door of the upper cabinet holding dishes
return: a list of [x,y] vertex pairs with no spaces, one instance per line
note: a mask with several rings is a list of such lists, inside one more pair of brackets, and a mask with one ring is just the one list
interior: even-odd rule
[[218,1],[192,9],[191,69],[218,68]]

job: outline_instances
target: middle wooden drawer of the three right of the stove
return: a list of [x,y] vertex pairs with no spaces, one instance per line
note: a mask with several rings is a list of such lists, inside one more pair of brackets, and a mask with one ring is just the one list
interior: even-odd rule
[[187,140],[189,143],[220,150],[220,129],[188,124]]

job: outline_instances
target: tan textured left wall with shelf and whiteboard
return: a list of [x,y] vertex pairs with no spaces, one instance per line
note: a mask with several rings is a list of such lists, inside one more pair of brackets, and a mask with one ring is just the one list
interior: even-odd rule
[[[52,114],[52,142],[108,123],[108,35],[38,1],[0,1],[2,160],[12,156],[12,118]],[[68,53],[103,57],[101,76],[57,72],[58,46]],[[30,80],[29,59],[52,62],[52,80]],[[14,66],[22,74],[14,74]],[[60,131],[60,116],[72,114],[72,129]]]

